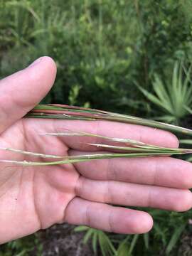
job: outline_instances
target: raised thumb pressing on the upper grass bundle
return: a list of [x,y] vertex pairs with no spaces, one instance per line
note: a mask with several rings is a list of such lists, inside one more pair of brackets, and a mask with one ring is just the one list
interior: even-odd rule
[[50,57],[0,80],[0,133],[21,119],[46,96],[53,86],[56,65]]

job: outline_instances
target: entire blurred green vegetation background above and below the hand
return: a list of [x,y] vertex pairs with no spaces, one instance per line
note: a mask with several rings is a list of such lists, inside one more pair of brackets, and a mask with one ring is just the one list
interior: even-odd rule
[[[0,0],[0,78],[41,55],[58,65],[43,102],[192,127],[191,0]],[[0,256],[192,255],[192,211],[149,213],[146,235],[55,225]]]

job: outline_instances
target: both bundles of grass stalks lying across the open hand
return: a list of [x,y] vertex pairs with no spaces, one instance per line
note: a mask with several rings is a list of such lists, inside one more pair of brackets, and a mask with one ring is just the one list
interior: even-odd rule
[[[182,134],[192,134],[191,129],[186,129],[183,127],[177,127],[171,124],[165,124],[161,122],[156,122],[153,120],[142,119],[139,117],[132,117],[125,114],[116,114],[112,112],[105,112],[101,110],[92,110],[82,107],[73,107],[68,105],[38,105],[31,112],[26,115],[26,118],[44,118],[44,119],[69,119],[69,120],[106,120],[113,122],[124,122],[128,124],[139,124],[148,127],[154,127],[158,129],[165,129],[171,132],[180,132]],[[112,159],[112,158],[130,158],[130,157],[146,157],[146,156],[167,156],[173,154],[191,154],[192,149],[173,149],[161,146],[154,146],[151,144],[146,144],[144,142],[138,142],[129,138],[114,138],[106,137],[100,134],[91,134],[87,132],[74,132],[66,129],[66,132],[56,132],[45,134],[39,134],[43,136],[53,136],[53,137],[98,137],[105,141],[105,143],[89,143],[87,145],[95,146],[100,149],[107,149],[107,153],[97,153],[97,154],[85,154],[79,156],[57,156],[50,154],[41,154],[31,151],[23,151],[20,149],[12,149],[0,147],[1,150],[11,151],[15,154],[23,154],[27,156],[41,157],[45,159],[52,159],[50,161],[16,161],[16,160],[6,160],[1,159],[1,162],[9,164],[19,164],[23,166],[48,166],[57,164],[73,164],[81,161],[92,161],[95,159]],[[110,143],[109,143],[110,142]],[[118,144],[117,144],[118,143]],[[120,145],[119,145],[120,144]],[[54,159],[54,161],[53,161]]]

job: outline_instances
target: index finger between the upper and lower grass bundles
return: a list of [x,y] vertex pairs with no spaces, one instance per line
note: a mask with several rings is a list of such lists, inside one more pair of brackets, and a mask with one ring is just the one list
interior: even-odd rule
[[[26,124],[30,123],[30,119],[25,120]],[[50,119],[36,119],[33,120],[36,125],[38,134],[45,134],[51,132],[66,132],[70,130],[73,132],[87,132],[92,134],[99,134],[107,137],[128,138],[135,139],[139,142],[155,144],[158,146],[178,147],[178,139],[174,134],[151,127],[143,127],[136,124],[123,124],[118,122],[107,121],[77,121],[77,120],[50,120]],[[39,132],[41,131],[41,132]],[[48,135],[44,135],[50,137]],[[58,137],[61,142],[71,149],[81,151],[98,151],[95,146],[89,146],[88,143],[105,143],[105,139],[97,137],[77,137],[64,136]],[[110,142],[107,141],[107,144]]]

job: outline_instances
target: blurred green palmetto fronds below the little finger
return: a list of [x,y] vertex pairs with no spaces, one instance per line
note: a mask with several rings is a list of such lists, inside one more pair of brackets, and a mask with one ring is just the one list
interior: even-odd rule
[[102,255],[148,256],[164,252],[164,255],[175,256],[176,245],[186,228],[191,212],[181,215],[162,210],[149,210],[149,213],[155,220],[154,229],[144,235],[106,235],[87,226],[79,226],[75,228],[75,232],[85,232],[83,242],[91,241],[93,251],[99,255],[97,247],[100,248]]

